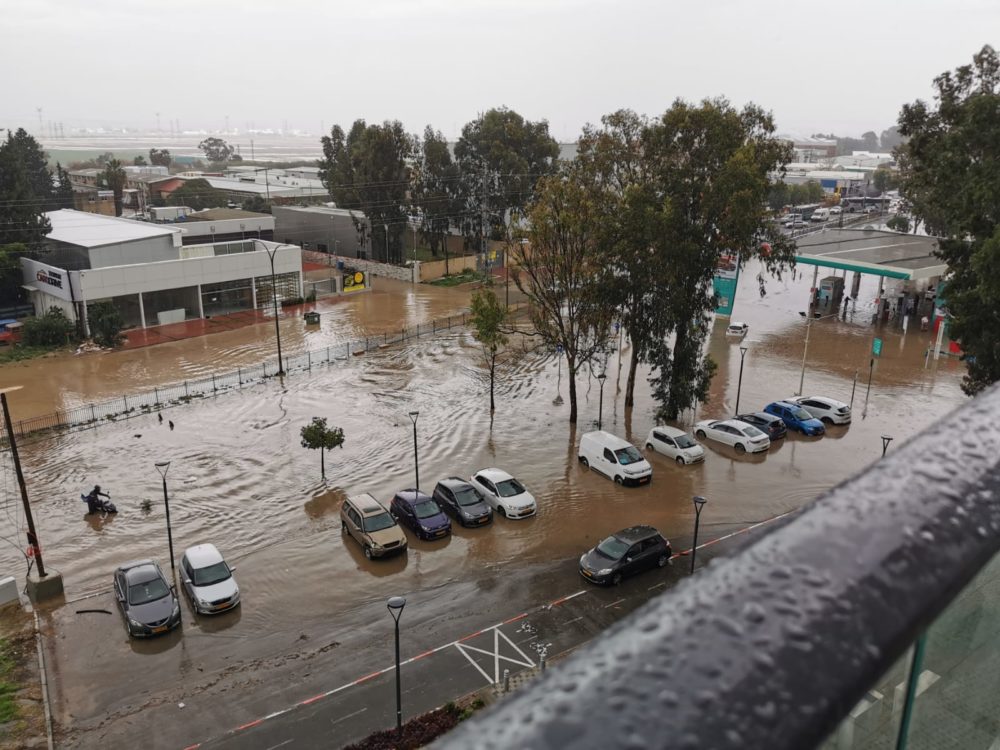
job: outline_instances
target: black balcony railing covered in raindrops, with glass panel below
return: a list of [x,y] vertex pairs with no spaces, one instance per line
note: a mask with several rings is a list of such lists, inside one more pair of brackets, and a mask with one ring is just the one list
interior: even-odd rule
[[998,549],[994,387],[437,746],[1000,747]]

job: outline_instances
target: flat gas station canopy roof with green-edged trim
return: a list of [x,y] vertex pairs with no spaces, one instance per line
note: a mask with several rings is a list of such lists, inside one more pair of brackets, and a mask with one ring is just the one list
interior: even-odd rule
[[827,229],[796,240],[795,262],[893,279],[921,280],[948,270],[938,238],[876,229]]

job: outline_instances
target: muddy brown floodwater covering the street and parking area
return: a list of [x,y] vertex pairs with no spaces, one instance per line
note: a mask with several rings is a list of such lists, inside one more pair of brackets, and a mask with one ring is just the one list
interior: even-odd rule
[[[522,565],[575,559],[609,532],[633,523],[651,523],[683,547],[693,526],[692,495],[709,499],[701,519],[706,535],[799,508],[877,460],[881,434],[903,441],[963,400],[959,382],[964,369],[959,362],[942,358],[924,367],[931,334],[911,329],[904,337],[887,328],[880,333],[885,345],[866,405],[873,331],[864,324],[871,318],[865,303],[870,305],[876,286],[866,279],[856,320],[849,315],[846,321],[825,319],[812,326],[806,393],[850,401],[852,381],[860,371],[854,423],[832,427],[826,437],[790,433],[756,457],[709,443],[705,463],[691,467],[651,455],[653,482],[621,488],[577,461],[579,436],[594,429],[597,418],[600,388],[593,375],[598,368],[580,377],[580,422],[573,427],[566,421],[568,404],[553,403],[557,393],[567,397],[565,372],[560,378],[557,360],[551,355],[518,357],[499,375],[491,426],[488,379],[478,345],[468,331],[453,330],[296,373],[284,383],[271,380],[171,409],[174,430],[159,424],[155,415],[143,415],[28,442],[22,459],[46,563],[64,574],[70,599],[106,592],[114,566],[129,559],[151,556],[169,571],[161,484],[154,464],[170,461],[167,482],[177,557],[189,545],[214,542],[239,567],[244,599],[242,611],[234,615],[191,625],[186,618],[183,636],[160,645],[132,646],[139,654],[181,659],[183,667],[192,659],[211,664],[212,654],[218,653],[212,650],[213,637],[249,639],[240,641],[244,653],[293,649],[293,636],[304,621],[320,621],[359,601],[475,580],[485,571],[516,575]],[[796,282],[770,281],[764,299],[758,298],[753,284],[741,290],[735,317],[750,323],[744,342],[749,351],[742,410],[760,409],[798,389],[805,332],[798,311],[804,309],[808,287],[800,276]],[[406,290],[400,294],[403,299],[373,294],[338,307],[343,316],[319,337],[342,340],[379,324],[396,327],[402,311],[410,320],[427,319],[447,314],[454,309],[450,305],[460,306],[457,293],[426,299],[410,299]],[[719,363],[710,401],[697,415],[683,415],[687,427],[696,417],[732,413],[740,342],[727,339],[726,323],[716,322],[710,341],[710,353]],[[311,345],[301,332],[298,335],[300,346]],[[152,383],[162,372],[161,362],[171,373],[195,375],[213,366],[231,367],[245,357],[259,358],[271,342],[266,335],[255,336],[262,334],[247,329],[143,350],[133,359],[123,357],[134,369],[117,375],[116,382],[119,387]],[[192,350],[203,355],[194,356]],[[627,362],[627,344],[623,354]],[[94,378],[115,377],[101,370],[100,359],[90,361],[93,364],[87,358],[65,364],[93,367]],[[644,446],[654,425],[646,372],[638,379],[636,407],[625,412],[625,374],[617,364],[612,354],[604,388],[604,428]],[[63,372],[51,376],[64,385],[73,380]],[[64,398],[81,398],[83,392],[78,388]],[[499,466],[536,496],[537,517],[498,519],[482,529],[456,528],[443,541],[412,541],[403,557],[365,560],[359,547],[341,535],[339,507],[346,494],[370,492],[387,502],[396,490],[413,486],[413,427],[407,417],[413,410],[420,413],[423,490],[431,491],[446,476],[468,477],[477,469]],[[326,482],[320,479],[319,456],[299,444],[299,430],[314,416],[327,417],[346,435],[343,448],[327,456]],[[5,505],[0,525],[3,535],[13,538],[23,528],[23,519],[9,457],[0,460]],[[85,516],[80,493],[95,483],[110,489],[121,511],[117,516]],[[144,503],[148,510],[143,510]],[[15,546],[0,545],[0,570],[20,575],[23,569]],[[117,615],[113,622],[103,622],[115,644],[124,639]],[[174,648],[177,643],[183,647]],[[57,718],[64,726],[97,721],[126,705],[129,691],[143,684],[139,675],[122,684],[113,671],[94,672],[110,648],[98,642],[93,652],[62,653],[57,660]]]

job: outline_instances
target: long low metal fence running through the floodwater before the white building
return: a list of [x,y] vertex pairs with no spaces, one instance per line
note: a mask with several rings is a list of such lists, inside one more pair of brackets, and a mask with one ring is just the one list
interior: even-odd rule
[[[512,304],[510,306],[511,312],[517,313],[520,307],[522,305]],[[365,354],[373,349],[404,344],[421,336],[435,335],[442,331],[464,326],[468,318],[469,314],[462,312],[447,318],[432,320],[429,323],[417,324],[410,328],[384,331],[321,349],[284,355],[282,357],[284,371],[286,374],[309,371],[313,367],[343,362],[352,356]],[[223,391],[254,385],[274,377],[277,373],[278,362],[277,357],[274,357],[260,364],[237,367],[235,370],[213,373],[203,378],[156,386],[149,390],[124,394],[106,401],[21,419],[13,423],[14,433],[18,437],[24,437],[41,432],[96,426],[102,421],[128,419],[140,414],[159,411],[169,406],[187,404],[195,399],[213,396]]]

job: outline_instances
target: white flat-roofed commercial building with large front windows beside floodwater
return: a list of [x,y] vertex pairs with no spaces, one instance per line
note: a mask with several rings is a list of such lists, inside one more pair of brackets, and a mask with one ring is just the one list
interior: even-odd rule
[[[63,209],[45,252],[22,258],[36,314],[61,308],[83,322],[87,306],[110,301],[126,327],[177,323],[267,308],[302,296],[298,247],[260,239],[184,245],[177,227]],[[273,259],[273,265],[272,265]]]

